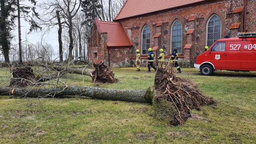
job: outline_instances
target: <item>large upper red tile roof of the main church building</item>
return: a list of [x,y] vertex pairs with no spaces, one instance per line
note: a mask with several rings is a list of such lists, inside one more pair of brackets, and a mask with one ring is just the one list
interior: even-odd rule
[[205,0],[126,0],[114,20],[148,14],[160,10],[168,10],[178,6],[194,4]]

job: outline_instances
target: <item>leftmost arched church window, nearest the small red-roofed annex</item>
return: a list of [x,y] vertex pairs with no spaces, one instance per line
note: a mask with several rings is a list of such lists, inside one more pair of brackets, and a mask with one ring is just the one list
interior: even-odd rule
[[148,54],[150,46],[150,29],[147,25],[142,29],[142,54]]

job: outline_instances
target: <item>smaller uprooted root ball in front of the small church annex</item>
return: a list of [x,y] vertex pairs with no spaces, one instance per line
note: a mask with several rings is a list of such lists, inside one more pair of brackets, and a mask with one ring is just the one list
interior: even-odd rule
[[114,78],[113,70],[106,66],[104,62],[93,64],[95,70],[91,72],[91,77],[94,82],[99,83],[116,83],[118,80]]

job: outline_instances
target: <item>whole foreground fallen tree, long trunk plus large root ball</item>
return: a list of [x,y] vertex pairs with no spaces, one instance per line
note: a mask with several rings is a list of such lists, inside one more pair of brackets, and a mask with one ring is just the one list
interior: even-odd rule
[[[99,75],[100,73],[96,73],[96,76]],[[0,94],[35,98],[72,95],[103,100],[152,103],[156,117],[174,126],[185,124],[191,116],[192,109],[200,110],[201,106],[215,103],[212,98],[204,96],[194,82],[187,78],[177,77],[172,64],[168,64],[164,69],[158,68],[154,88],[147,90],[115,90],[66,85],[55,88],[1,87]]]

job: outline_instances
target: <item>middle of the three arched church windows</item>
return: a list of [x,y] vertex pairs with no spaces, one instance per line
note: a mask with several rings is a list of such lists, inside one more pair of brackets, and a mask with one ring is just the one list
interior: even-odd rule
[[182,52],[182,26],[180,21],[175,20],[171,27],[172,36],[171,36],[171,53],[174,48],[178,49],[178,53]]

